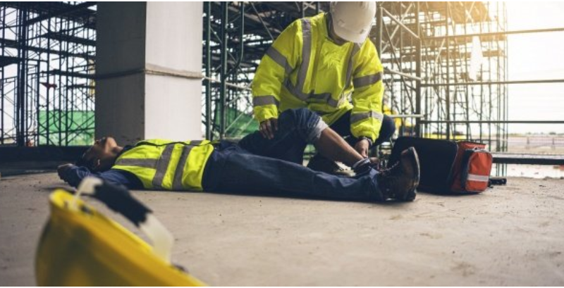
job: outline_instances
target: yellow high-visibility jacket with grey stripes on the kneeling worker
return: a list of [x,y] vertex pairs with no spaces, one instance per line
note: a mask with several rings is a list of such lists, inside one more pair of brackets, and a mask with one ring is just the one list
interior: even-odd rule
[[375,141],[384,117],[384,68],[369,39],[335,44],[330,18],[321,13],[296,20],[266,51],[252,82],[255,118],[262,122],[278,118],[279,111],[307,107],[331,125],[353,109],[353,136]]

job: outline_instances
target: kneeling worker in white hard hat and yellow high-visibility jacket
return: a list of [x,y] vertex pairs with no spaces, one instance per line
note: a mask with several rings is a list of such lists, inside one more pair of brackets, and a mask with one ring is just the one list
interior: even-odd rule
[[[278,36],[252,81],[264,137],[274,137],[279,111],[308,108],[364,157],[390,139],[396,128],[382,113],[384,68],[367,38],[375,12],[376,2],[331,2],[329,13],[295,20]],[[308,167],[343,174],[321,156]]]

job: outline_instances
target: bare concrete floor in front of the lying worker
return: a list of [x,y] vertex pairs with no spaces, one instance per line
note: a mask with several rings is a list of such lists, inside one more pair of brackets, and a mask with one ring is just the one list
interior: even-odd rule
[[[407,204],[135,196],[175,235],[173,261],[211,285],[564,285],[564,180],[508,183]],[[47,196],[61,185],[55,173],[1,178],[0,285],[35,284]]]

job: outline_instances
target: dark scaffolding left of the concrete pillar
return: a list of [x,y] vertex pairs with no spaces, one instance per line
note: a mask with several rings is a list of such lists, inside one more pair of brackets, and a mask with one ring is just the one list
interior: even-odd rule
[[0,145],[92,143],[95,3],[3,2],[0,19]]

